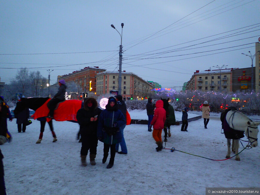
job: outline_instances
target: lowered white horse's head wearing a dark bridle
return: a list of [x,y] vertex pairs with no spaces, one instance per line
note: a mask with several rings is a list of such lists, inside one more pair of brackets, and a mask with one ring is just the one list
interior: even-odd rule
[[259,124],[260,124],[260,122],[254,122],[252,120],[247,122],[248,127],[247,127],[247,130],[245,131],[245,134],[253,147],[256,147],[258,145],[257,135],[259,132],[259,130],[258,130]]

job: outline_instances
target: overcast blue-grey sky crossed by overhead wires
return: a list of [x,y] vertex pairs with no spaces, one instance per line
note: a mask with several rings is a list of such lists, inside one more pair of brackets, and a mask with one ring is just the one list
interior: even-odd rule
[[[0,77],[22,67],[51,84],[84,67],[122,71],[179,90],[196,70],[251,66],[260,37],[259,0],[0,0]],[[23,54],[23,55],[3,55]],[[13,68],[13,69],[7,69]]]

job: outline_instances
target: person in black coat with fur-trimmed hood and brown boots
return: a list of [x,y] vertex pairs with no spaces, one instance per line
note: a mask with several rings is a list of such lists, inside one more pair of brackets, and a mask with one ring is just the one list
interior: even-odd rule
[[97,108],[98,104],[96,99],[88,98],[84,102],[84,107],[80,108],[77,112],[77,121],[80,125],[79,131],[82,140],[80,151],[82,166],[87,166],[86,157],[88,150],[90,152],[90,164],[96,165],[95,158],[97,154],[97,124],[98,116],[102,112]]

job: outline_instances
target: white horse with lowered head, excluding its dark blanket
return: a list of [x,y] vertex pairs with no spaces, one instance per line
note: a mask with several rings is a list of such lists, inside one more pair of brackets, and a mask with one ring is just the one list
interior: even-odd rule
[[[243,114],[237,110],[228,111],[225,118],[226,118],[226,122],[228,123],[230,128],[232,128],[234,130],[239,130],[239,131],[241,131],[242,134],[245,133],[245,135],[249,139],[251,146],[256,147],[258,145],[257,134],[259,132],[258,125],[260,124],[260,122],[253,122],[245,114]],[[225,132],[225,128],[223,128],[223,129]],[[225,136],[226,136],[226,133],[225,133]],[[237,155],[240,138],[241,137],[236,137],[236,139],[232,139],[232,151],[233,151],[233,153],[236,154],[235,159],[238,161],[240,160],[239,156]],[[231,139],[227,139],[227,156],[226,156],[226,158],[230,158],[230,146],[231,146]]]

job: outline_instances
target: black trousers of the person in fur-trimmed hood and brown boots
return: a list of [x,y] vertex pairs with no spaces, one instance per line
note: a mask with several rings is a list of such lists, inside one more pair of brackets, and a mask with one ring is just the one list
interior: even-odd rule
[[97,136],[88,136],[88,137],[82,137],[82,145],[81,145],[81,156],[87,156],[88,150],[90,154],[97,154]]

